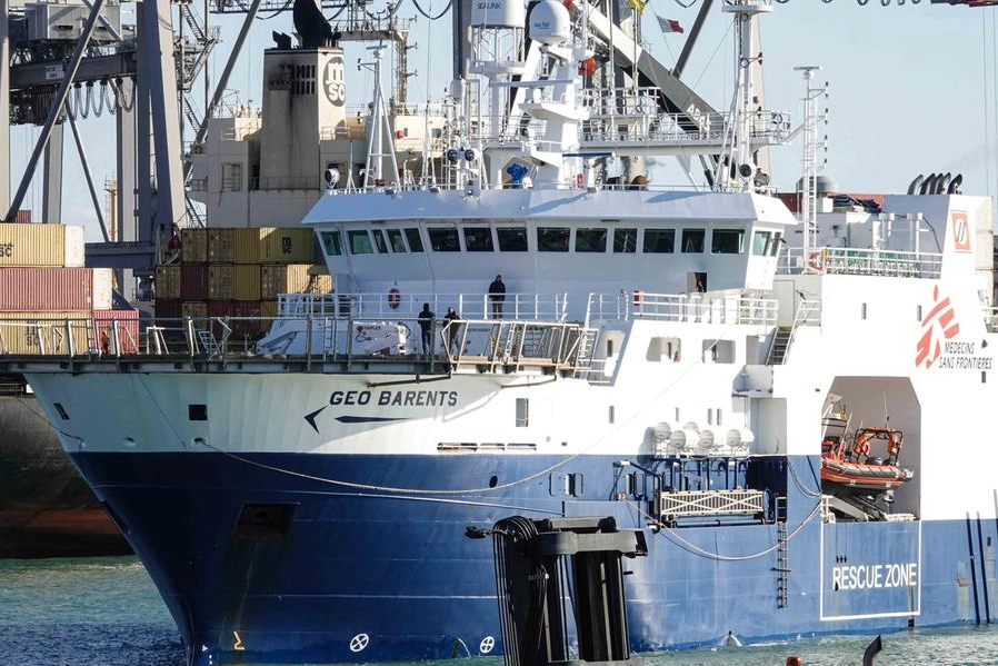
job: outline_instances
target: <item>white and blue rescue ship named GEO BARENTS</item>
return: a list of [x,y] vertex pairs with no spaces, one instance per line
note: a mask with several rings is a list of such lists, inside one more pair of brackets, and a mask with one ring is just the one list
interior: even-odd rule
[[[839,205],[810,171],[791,212],[758,159],[795,129],[755,101],[771,9],[723,6],[722,113],[618,86],[596,56],[638,47],[585,2],[475,3],[472,76],[427,108],[383,103],[378,50],[359,115],[336,43],[267,50],[262,119],[224,119],[200,155],[221,146],[232,178],[321,173],[302,227],[335,291],[160,316],[134,349],[0,357],[188,664],[498,654],[492,554],[469,537],[510,516],[642,531],[636,650],[998,618],[992,201],[931,175]],[[799,123],[816,142],[814,108]],[[706,182],[639,170],[692,155]],[[208,199],[263,215],[224,171]]]

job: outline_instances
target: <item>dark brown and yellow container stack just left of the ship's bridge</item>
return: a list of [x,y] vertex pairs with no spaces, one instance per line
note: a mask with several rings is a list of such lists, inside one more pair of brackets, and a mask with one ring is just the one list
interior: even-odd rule
[[157,324],[229,317],[234,337],[259,336],[279,294],[332,291],[330,276],[313,275],[313,238],[311,229],[184,229],[179,262],[156,270]]

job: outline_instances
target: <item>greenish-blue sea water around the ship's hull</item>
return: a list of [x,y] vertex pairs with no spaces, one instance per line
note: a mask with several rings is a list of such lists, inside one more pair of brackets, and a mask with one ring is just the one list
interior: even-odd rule
[[[862,663],[872,636],[807,638],[645,655],[647,666],[804,666]],[[447,666],[450,662],[421,663]],[[500,657],[476,666],[501,666]],[[998,665],[998,626],[884,636],[877,666]],[[0,665],[182,666],[177,629],[134,557],[0,560]]]

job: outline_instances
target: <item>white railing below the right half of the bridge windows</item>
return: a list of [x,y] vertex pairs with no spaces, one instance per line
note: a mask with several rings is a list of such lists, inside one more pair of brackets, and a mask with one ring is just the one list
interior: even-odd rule
[[657,319],[697,324],[772,326],[779,301],[739,290],[703,294],[650,294],[641,290],[589,297],[586,322],[607,319]]

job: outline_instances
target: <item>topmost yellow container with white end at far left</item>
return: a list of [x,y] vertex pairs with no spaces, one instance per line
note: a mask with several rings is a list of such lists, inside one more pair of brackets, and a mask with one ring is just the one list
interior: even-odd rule
[[0,223],[0,266],[83,266],[83,228]]

